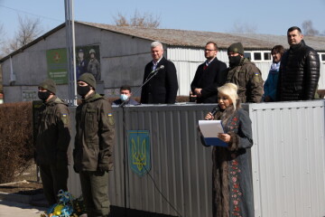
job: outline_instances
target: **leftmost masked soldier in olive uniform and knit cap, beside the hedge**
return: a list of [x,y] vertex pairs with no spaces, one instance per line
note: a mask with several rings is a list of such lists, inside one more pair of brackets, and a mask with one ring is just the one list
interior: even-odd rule
[[68,190],[69,109],[55,93],[53,80],[44,80],[39,85],[38,96],[43,104],[36,137],[35,162],[40,167],[43,192],[50,206],[57,203],[59,190]]

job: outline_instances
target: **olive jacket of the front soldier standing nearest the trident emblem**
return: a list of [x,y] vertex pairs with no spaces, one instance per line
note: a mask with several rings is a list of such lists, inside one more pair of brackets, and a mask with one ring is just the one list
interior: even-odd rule
[[115,123],[107,99],[93,93],[76,110],[74,168],[79,171],[113,169]]

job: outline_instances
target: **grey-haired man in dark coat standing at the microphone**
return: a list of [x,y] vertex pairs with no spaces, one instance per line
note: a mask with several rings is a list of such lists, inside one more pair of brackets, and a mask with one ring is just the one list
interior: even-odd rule
[[[151,53],[153,61],[150,61],[145,66],[144,82],[151,77],[153,78],[142,89],[141,103],[175,103],[178,90],[175,65],[172,61],[167,61],[163,57],[163,44],[161,42],[152,42]],[[161,66],[163,66],[162,70],[159,70],[156,74],[151,73]]]

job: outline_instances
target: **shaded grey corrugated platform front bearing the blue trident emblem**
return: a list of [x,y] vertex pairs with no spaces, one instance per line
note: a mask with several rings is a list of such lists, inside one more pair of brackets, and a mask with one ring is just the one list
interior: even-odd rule
[[[200,145],[197,120],[203,118],[212,107],[182,105],[125,108],[126,130],[149,130],[152,165],[149,173],[169,203],[182,216],[211,216],[210,148]],[[116,108],[115,111],[118,117],[116,128],[123,132],[122,109]],[[123,134],[118,137],[121,136]],[[117,152],[123,153],[123,139],[118,140]],[[126,148],[125,155],[128,156],[130,151]],[[122,158],[116,161],[122,162]],[[128,208],[178,215],[155,189],[149,175],[141,177],[127,167],[126,177]],[[112,198],[112,202],[115,200]],[[116,205],[124,206],[124,203]]]

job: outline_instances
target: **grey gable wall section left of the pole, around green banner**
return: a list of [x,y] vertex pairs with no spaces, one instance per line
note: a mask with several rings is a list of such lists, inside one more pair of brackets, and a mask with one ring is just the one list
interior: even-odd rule
[[[65,39],[65,31],[61,29],[2,63],[5,102],[22,101],[23,90],[37,90],[37,85],[48,78],[46,51],[65,47]],[[15,75],[12,83],[11,64]],[[67,91],[65,85],[60,85],[57,94],[67,98]]]

